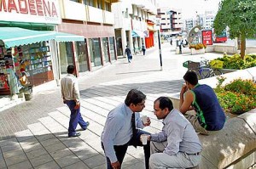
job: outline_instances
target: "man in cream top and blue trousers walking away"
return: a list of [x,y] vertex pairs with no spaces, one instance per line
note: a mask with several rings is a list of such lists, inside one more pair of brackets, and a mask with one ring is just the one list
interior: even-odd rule
[[83,130],[89,126],[89,122],[85,122],[80,113],[80,93],[79,83],[75,75],[75,68],[73,65],[67,66],[67,76],[61,79],[61,97],[63,103],[67,104],[71,111],[69,127],[68,127],[68,138],[79,137],[81,133],[76,132],[78,124]]

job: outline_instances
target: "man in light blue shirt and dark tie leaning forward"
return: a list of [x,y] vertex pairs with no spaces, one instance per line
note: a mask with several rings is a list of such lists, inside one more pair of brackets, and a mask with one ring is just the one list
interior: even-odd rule
[[150,125],[150,119],[143,123],[140,114],[145,107],[146,95],[136,89],[131,89],[127,94],[125,103],[119,104],[108,114],[105,127],[102,132],[102,149],[107,159],[108,169],[121,168],[129,145],[143,146],[145,166],[148,169],[150,155],[149,143],[143,145],[140,141],[142,134],[149,134],[141,129]]

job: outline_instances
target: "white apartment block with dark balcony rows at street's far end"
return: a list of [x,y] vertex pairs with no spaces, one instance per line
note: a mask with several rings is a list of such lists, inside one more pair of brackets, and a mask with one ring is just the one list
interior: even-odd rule
[[168,34],[177,35],[183,30],[183,20],[181,9],[168,7],[158,8],[160,18],[160,31]]

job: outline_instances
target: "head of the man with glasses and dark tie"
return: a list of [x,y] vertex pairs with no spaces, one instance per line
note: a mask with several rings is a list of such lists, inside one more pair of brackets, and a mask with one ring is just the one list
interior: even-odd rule
[[125,99],[125,104],[133,112],[141,112],[145,107],[146,95],[137,89],[131,89]]

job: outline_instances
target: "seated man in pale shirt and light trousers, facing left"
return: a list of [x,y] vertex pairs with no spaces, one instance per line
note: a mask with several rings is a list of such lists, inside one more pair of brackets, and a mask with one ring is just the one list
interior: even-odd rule
[[151,169],[190,168],[201,161],[201,143],[191,123],[173,109],[171,99],[160,97],[154,101],[154,115],[163,119],[162,132],[151,134]]

